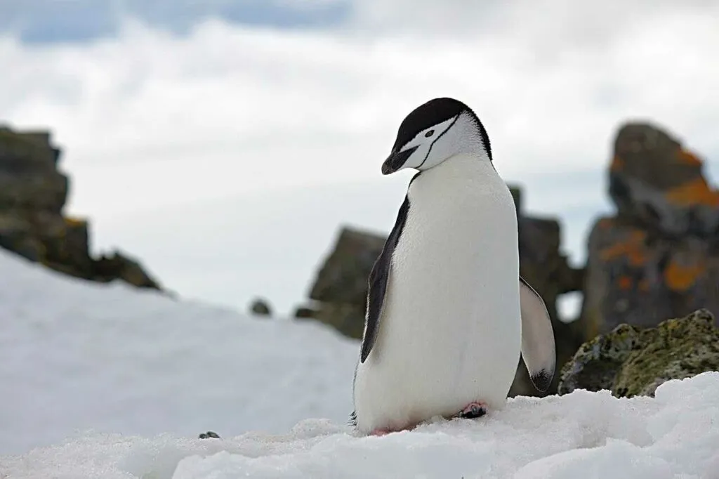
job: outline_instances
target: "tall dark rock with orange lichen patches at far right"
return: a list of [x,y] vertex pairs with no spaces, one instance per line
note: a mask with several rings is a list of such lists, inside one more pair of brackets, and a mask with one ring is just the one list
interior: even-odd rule
[[697,155],[654,125],[624,124],[609,193],[616,214],[598,219],[589,237],[585,339],[619,324],[719,311],[719,191]]

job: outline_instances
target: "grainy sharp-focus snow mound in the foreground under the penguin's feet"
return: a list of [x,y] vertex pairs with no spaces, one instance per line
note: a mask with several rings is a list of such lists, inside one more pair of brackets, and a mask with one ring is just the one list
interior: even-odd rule
[[608,392],[510,399],[477,420],[358,437],[306,420],[233,439],[88,436],[4,457],[9,478],[719,478],[719,373],[656,398]]

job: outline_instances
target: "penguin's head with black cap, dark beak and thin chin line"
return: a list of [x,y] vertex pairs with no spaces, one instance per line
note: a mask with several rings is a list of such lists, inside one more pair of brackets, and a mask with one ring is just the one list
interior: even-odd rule
[[492,160],[485,127],[462,101],[436,98],[411,111],[400,124],[392,151],[382,164],[382,174],[404,168],[429,170],[460,153]]

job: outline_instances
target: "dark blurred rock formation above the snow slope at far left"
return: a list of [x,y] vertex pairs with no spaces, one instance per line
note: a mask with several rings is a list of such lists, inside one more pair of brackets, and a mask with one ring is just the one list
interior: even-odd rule
[[87,220],[63,215],[69,181],[59,158],[50,133],[0,127],[0,247],[77,278],[160,289],[120,252],[91,257]]

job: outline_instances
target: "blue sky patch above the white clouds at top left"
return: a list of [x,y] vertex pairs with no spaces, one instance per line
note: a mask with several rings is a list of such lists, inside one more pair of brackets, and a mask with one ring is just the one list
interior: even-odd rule
[[349,17],[349,0],[0,0],[0,35],[26,43],[86,42],[112,37],[123,15],[178,35],[215,17],[233,24],[323,28]]

